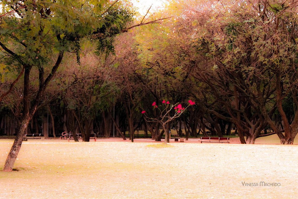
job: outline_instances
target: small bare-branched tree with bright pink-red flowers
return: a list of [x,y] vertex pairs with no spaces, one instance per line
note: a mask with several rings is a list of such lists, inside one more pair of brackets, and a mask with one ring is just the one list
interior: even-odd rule
[[[195,104],[195,102],[193,102],[192,100],[189,100],[187,107],[192,106],[194,104]],[[170,142],[170,137],[169,137],[170,122],[173,121],[174,119],[178,118],[187,109],[187,107],[184,108],[179,103],[176,103],[173,105],[173,104],[170,104],[169,101],[166,102],[165,100],[162,101],[161,106],[157,106],[156,102],[153,102],[152,106],[156,111],[160,112],[159,118],[148,117],[145,114],[146,113],[145,110],[142,111],[142,114],[144,115],[144,118],[146,121],[158,122],[162,125],[162,129],[164,130],[164,133],[165,133],[164,143],[166,144],[167,142]]]

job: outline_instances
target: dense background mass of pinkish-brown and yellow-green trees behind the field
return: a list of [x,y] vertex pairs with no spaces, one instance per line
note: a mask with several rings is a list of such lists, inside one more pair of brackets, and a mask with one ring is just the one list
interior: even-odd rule
[[[65,52],[40,96],[31,126],[38,129],[49,114],[56,129],[86,135],[100,129],[109,137],[115,124],[125,139],[124,130],[133,136],[142,127],[159,141],[159,125],[146,122],[141,111],[158,118],[153,101],[162,106],[162,100],[186,104],[192,99],[195,106],[169,125],[179,134],[184,128],[187,136],[207,136],[207,131],[223,136],[235,127],[241,143],[254,144],[270,129],[281,144],[293,144],[298,132],[297,5],[176,0],[153,15],[173,17],[115,38],[115,54],[94,53],[98,46],[82,40],[80,64],[75,52]],[[2,53],[2,63],[5,58]],[[1,70],[2,95],[21,70]],[[39,90],[39,74],[33,68],[29,76],[30,106]],[[0,107],[0,119],[10,116],[18,126],[24,110],[23,82],[24,75]]]

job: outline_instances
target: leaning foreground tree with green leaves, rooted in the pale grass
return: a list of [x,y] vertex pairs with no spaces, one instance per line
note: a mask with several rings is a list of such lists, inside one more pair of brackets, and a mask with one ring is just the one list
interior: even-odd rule
[[[115,1],[117,2],[117,1]],[[23,117],[3,171],[11,171],[25,129],[63,61],[73,52],[80,61],[81,41],[97,41],[97,53],[113,52],[114,37],[132,21],[132,13],[109,1],[2,1],[1,67],[24,68]],[[38,70],[38,91],[30,105],[30,72]]]

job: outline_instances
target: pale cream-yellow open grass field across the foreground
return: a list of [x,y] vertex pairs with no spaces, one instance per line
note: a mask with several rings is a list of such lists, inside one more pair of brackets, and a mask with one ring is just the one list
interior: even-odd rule
[[297,198],[297,145],[148,142],[23,142],[0,198]]

